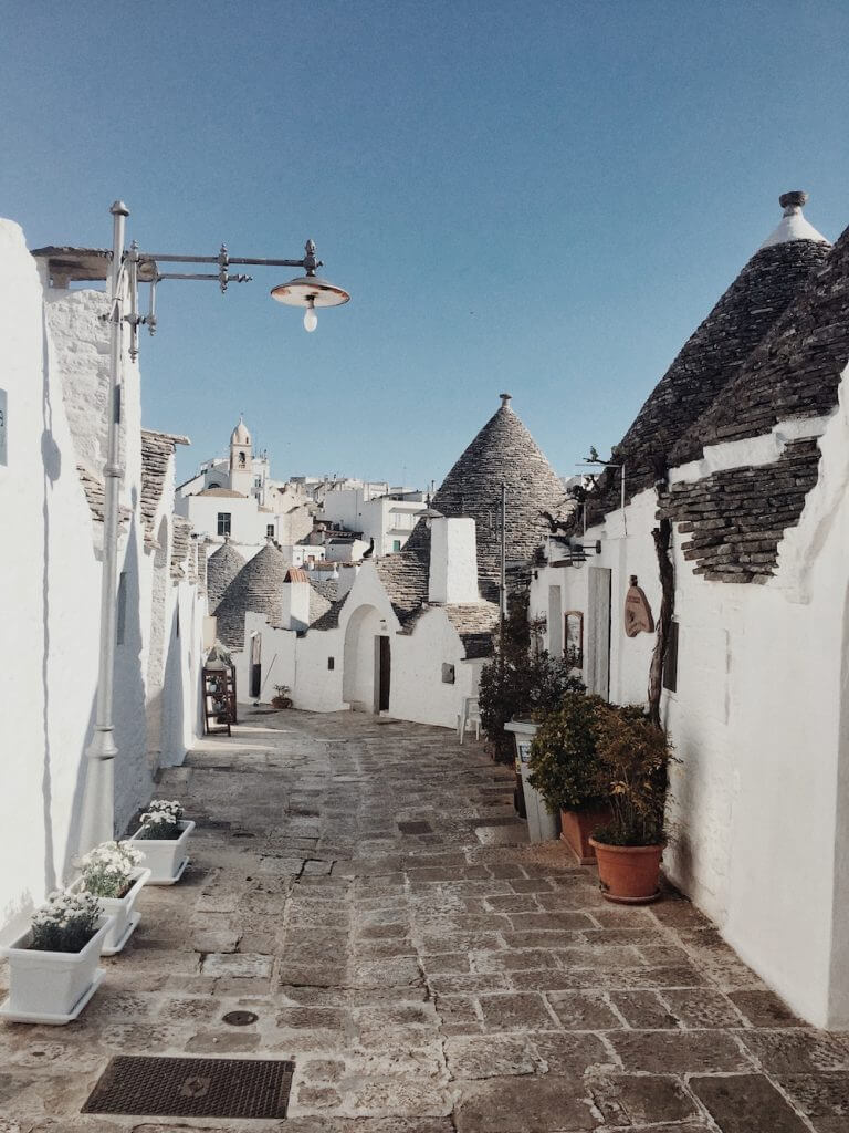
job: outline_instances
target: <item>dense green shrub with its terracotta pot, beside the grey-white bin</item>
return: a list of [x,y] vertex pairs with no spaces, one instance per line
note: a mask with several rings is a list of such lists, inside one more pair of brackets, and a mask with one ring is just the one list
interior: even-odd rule
[[601,697],[565,692],[537,729],[529,761],[531,786],[560,812],[560,838],[582,866],[595,861],[594,827],[610,819],[595,760],[595,719],[603,704]]

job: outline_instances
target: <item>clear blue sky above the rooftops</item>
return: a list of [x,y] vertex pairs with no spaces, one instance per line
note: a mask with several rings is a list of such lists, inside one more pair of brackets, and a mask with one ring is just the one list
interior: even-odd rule
[[555,468],[616,443],[778,223],[849,223],[849,5],[0,0],[0,215],[31,247],[297,257],[164,283],[144,418],[181,475],[243,410],[277,476],[440,480],[498,393]]

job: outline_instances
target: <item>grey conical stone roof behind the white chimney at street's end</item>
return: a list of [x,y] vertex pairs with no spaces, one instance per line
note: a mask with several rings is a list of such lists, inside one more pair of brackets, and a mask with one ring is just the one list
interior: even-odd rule
[[[509,394],[503,393],[500,409],[478,433],[431,501],[431,506],[444,516],[474,520],[478,574],[484,597],[491,594],[491,585],[487,583],[497,583],[499,577],[501,483],[507,486],[509,561],[530,561],[549,531],[542,512],[557,514],[566,496],[563,482],[509,401]],[[428,543],[429,533],[420,521],[404,552],[423,551]]]

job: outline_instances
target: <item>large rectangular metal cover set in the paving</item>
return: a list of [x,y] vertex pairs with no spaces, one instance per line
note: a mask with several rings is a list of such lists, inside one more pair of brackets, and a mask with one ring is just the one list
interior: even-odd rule
[[112,1058],[84,1114],[285,1117],[294,1063],[258,1058]]

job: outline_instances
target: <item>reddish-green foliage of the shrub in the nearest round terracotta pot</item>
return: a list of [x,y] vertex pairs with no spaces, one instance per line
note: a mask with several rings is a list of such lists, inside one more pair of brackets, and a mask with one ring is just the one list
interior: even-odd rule
[[666,732],[638,707],[601,704],[595,709],[598,790],[612,811],[593,833],[619,846],[662,845],[671,744]]

